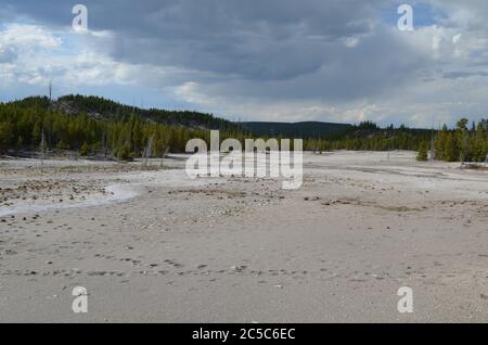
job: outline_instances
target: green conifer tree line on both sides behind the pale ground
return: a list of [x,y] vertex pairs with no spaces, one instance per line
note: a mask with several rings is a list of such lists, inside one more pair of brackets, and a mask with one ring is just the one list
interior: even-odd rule
[[[131,159],[142,156],[151,143],[152,156],[167,150],[184,152],[187,142],[201,138],[209,142],[209,129],[220,139],[235,138],[244,144],[252,133],[239,124],[211,114],[141,110],[97,97],[67,95],[51,102],[27,98],[0,103],[0,154],[20,151],[76,151],[80,155]],[[278,139],[281,136],[277,135]],[[266,137],[264,139],[267,139]],[[293,139],[293,138],[291,138]],[[292,142],[293,143],[293,142]],[[418,151],[418,158],[485,162],[488,154],[488,119],[468,126],[462,118],[454,128],[411,129],[393,125],[380,128],[372,122],[350,126],[328,137],[304,138],[306,151]]]

